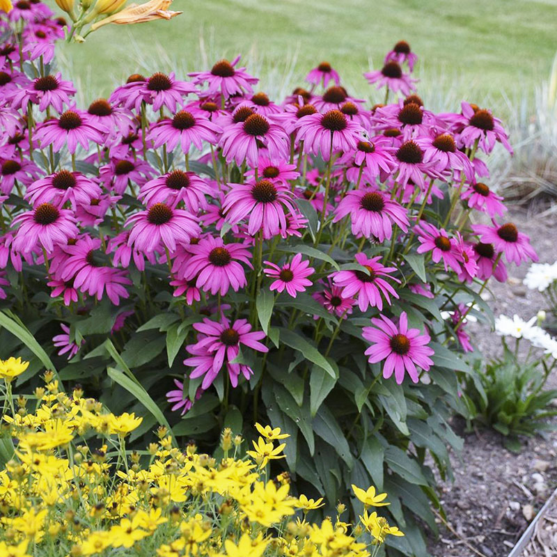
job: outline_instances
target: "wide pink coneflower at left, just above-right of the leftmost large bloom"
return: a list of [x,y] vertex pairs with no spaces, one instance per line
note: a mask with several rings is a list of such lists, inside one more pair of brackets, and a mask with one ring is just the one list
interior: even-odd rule
[[52,203],[56,207],[62,207],[70,201],[75,209],[77,205],[91,202],[91,199],[99,198],[101,194],[97,182],[93,182],[80,172],[61,170],[33,182],[27,187],[24,198],[31,205]]

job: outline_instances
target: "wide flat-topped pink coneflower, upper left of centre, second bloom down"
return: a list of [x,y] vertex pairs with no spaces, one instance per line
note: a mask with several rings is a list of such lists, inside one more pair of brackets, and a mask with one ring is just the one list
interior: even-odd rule
[[187,153],[192,145],[203,150],[203,141],[217,143],[217,134],[221,133],[222,128],[201,112],[180,110],[172,118],[152,124],[147,139],[153,142],[155,149],[166,145],[169,152],[180,143],[182,152]]

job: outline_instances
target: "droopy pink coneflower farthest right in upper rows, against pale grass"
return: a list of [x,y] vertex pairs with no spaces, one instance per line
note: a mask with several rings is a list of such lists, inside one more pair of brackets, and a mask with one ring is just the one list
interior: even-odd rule
[[501,120],[495,118],[491,111],[472,107],[468,102],[462,102],[462,116],[458,118],[456,126],[459,129],[457,145],[459,147],[478,148],[489,155],[499,141],[512,154],[512,147],[508,141],[507,132]]

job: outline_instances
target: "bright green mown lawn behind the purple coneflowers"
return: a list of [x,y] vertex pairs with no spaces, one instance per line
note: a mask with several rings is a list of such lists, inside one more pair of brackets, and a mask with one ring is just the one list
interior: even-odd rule
[[546,79],[557,47],[556,0],[175,0],[171,9],[184,13],[63,45],[62,66],[86,88],[84,101],[133,72],[177,65],[183,74],[239,53],[263,90],[291,88],[327,60],[350,92],[369,95],[361,73],[405,39],[430,95],[452,88],[455,102],[475,95],[499,104]]

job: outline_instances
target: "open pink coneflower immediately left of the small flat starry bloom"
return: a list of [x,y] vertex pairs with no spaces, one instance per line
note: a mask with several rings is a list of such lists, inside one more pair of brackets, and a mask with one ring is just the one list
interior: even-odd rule
[[192,254],[191,258],[172,269],[179,278],[190,281],[197,277],[197,288],[212,295],[217,292],[226,295],[230,287],[237,292],[246,285],[246,274],[239,261],[251,267],[251,253],[243,244],[225,245],[221,237],[207,236],[185,249]]

